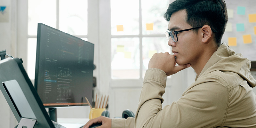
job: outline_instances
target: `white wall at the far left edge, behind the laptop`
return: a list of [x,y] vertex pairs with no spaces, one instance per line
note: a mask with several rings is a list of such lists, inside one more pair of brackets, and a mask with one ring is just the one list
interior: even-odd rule
[[[14,4],[14,5],[13,5]],[[0,6],[7,6],[6,11],[9,16],[9,21],[0,22],[0,50],[7,50],[7,54],[16,55],[16,31],[15,31],[15,1],[1,0]],[[14,30],[14,31],[13,31]],[[2,67],[1,67],[2,68]],[[0,76],[1,77],[1,76]],[[12,114],[12,111],[7,104],[2,92],[0,92],[0,128],[13,128],[18,122]]]

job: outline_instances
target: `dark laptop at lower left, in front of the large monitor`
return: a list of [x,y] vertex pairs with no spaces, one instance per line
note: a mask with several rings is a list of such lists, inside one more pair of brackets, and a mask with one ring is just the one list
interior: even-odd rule
[[66,128],[50,119],[20,59],[0,61],[0,90],[19,123],[17,128]]

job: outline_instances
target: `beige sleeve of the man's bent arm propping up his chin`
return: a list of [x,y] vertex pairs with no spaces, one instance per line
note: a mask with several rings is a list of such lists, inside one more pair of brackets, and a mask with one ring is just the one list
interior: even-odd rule
[[228,103],[227,88],[222,86],[223,83],[216,77],[206,79],[210,81],[197,84],[178,101],[162,108],[166,74],[160,69],[148,69],[140,93],[134,126],[209,128],[221,125]]

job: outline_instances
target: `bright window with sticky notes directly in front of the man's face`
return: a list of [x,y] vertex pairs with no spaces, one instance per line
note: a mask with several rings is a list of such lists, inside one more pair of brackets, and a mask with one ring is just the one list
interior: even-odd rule
[[142,79],[154,53],[169,52],[170,0],[111,0],[111,78]]

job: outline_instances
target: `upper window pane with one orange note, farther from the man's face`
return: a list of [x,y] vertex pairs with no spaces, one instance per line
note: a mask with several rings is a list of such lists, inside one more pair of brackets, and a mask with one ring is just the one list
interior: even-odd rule
[[111,34],[139,35],[139,0],[111,0]]

